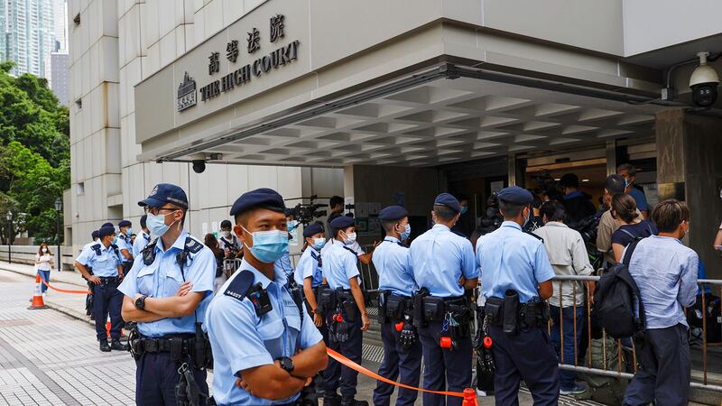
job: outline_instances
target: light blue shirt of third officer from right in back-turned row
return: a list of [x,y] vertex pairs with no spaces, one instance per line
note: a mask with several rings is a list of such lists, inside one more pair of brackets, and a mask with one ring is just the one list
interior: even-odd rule
[[378,273],[378,289],[391,291],[398,296],[411,297],[419,287],[413,280],[412,257],[409,248],[393,236],[386,236],[384,242],[374,250],[372,259]]

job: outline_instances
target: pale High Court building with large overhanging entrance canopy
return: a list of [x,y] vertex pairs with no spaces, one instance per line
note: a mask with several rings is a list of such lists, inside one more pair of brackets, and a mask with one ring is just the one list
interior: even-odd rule
[[387,204],[422,230],[440,191],[480,217],[495,189],[565,172],[597,198],[627,161],[652,203],[722,220],[720,103],[695,109],[688,86],[696,53],[722,51],[713,0],[111,4],[69,5],[74,245],[159,181],[190,191],[196,234],[264,186],[345,196],[371,242]]

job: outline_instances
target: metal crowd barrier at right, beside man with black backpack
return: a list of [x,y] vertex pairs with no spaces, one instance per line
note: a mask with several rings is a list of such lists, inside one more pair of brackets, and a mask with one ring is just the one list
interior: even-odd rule
[[[578,319],[577,319],[577,313],[579,308],[584,309],[582,312],[582,317],[584,318],[582,320],[582,333],[586,333],[586,335],[582,335],[582,339],[586,340],[587,349],[585,351],[586,354],[584,354],[584,361],[580,363],[580,353],[579,353],[579,346],[582,346],[581,340],[575,340],[574,343],[574,363],[571,364],[565,364],[564,360],[564,323],[560,322],[558,326],[553,325],[552,321],[549,322],[549,333],[551,334],[552,328],[558,328],[560,330],[560,369],[567,370],[567,371],[574,371],[580,374],[597,374],[597,375],[603,375],[603,376],[609,376],[609,377],[616,377],[616,378],[625,378],[625,379],[632,379],[634,376],[634,373],[637,371],[637,359],[636,359],[636,351],[634,349],[634,342],[630,339],[627,342],[616,339],[615,347],[614,348],[607,348],[607,342],[611,339],[611,337],[606,337],[606,331],[602,329],[602,367],[596,367],[592,365],[592,358],[594,354],[592,353],[592,318],[591,318],[591,309],[592,304],[588,300],[588,292],[590,291],[590,285],[592,282],[599,281],[598,276],[579,276],[579,275],[569,275],[569,276],[556,276],[552,279],[554,283],[554,298],[551,298],[549,300],[549,304],[551,306],[554,306],[557,309],[552,309],[551,311],[559,311],[559,319],[562,320],[562,309],[564,308],[562,306],[562,287],[568,287],[569,284],[571,285],[571,297],[573,299],[572,306],[567,306],[567,308],[571,307],[573,308],[573,320],[572,320],[572,326],[574,328],[573,331],[573,337],[577,337],[578,330],[577,325]],[[690,332],[692,333],[691,336],[695,339],[690,339],[690,352],[693,352],[698,349],[698,344],[701,342],[701,355],[702,355],[702,379],[701,382],[691,382],[690,388],[696,388],[696,389],[702,389],[707,391],[713,391],[713,392],[722,392],[722,385],[720,384],[713,384],[709,383],[708,374],[709,372],[709,363],[708,363],[708,348],[709,347],[722,347],[722,339],[720,342],[715,343],[709,343],[708,342],[708,333],[709,332],[715,332],[712,330],[712,328],[718,328],[720,337],[722,337],[722,318],[720,318],[719,314],[717,313],[717,323],[720,324],[720,326],[712,327],[708,326],[708,298],[712,297],[713,295],[713,289],[717,290],[719,292],[719,297],[722,297],[722,280],[698,280],[698,303],[694,306],[694,308],[685,309],[685,315],[689,316],[690,311],[694,311],[695,316],[699,318],[699,315],[701,315],[701,320],[699,323],[701,324],[701,328],[695,327],[690,323],[690,318],[688,317],[688,324],[690,324]],[[582,295],[586,300],[584,300],[582,303],[578,302],[577,293],[579,292],[579,289],[582,289],[584,294]],[[556,303],[555,300],[558,300]],[[717,298],[715,300],[718,300]],[[698,307],[699,305],[699,307]],[[701,337],[698,337],[701,335]],[[586,336],[586,337],[585,337]],[[614,356],[616,353],[616,368],[608,368],[607,366],[607,355],[610,357]],[[598,353],[596,354],[598,357]],[[694,358],[694,357],[692,357]],[[722,364],[717,363],[714,364],[718,367],[718,370],[713,371],[713,374],[720,374],[720,382],[722,382]],[[692,371],[699,371],[694,368],[694,365],[692,365]],[[694,377],[692,378],[694,380]]]

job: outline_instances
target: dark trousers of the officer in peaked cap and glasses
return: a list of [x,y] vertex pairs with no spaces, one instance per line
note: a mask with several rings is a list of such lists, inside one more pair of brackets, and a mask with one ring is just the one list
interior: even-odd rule
[[[171,353],[144,353],[135,360],[135,403],[137,406],[176,406],[175,385],[180,381],[179,361],[173,361]],[[206,371],[188,367],[198,383],[200,392],[208,395]]]

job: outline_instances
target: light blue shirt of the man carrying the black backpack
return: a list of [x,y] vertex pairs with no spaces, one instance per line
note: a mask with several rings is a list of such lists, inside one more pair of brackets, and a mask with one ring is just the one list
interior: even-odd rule
[[647,328],[689,327],[682,308],[697,300],[698,271],[697,253],[676,238],[651,235],[637,244],[629,273],[642,296]]

